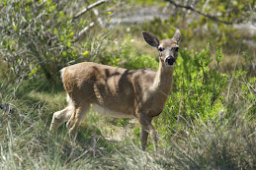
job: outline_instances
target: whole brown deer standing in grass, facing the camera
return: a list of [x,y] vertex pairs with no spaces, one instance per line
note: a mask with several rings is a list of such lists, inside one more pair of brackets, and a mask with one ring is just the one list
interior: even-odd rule
[[159,52],[158,70],[128,70],[93,62],[63,68],[60,73],[67,106],[53,114],[50,131],[56,132],[67,122],[68,133],[76,132],[92,109],[106,116],[137,119],[141,125],[142,150],[146,148],[148,134],[154,150],[158,149],[151,122],[163,111],[170,94],[181,32],[177,28],[172,38],[163,40],[146,31],[142,35]]

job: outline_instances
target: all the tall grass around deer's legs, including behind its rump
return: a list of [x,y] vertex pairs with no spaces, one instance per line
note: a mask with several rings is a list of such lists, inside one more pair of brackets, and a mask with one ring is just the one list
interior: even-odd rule
[[[120,127],[94,116],[87,117],[90,123],[80,128],[76,142],[64,125],[53,136],[48,132],[51,115],[63,107],[65,95],[45,85],[37,88],[37,81],[30,85],[25,82],[6,98],[16,113],[9,113],[0,127],[0,169],[255,169],[254,84],[245,78],[229,85],[221,110],[208,119],[181,114],[177,120],[165,110],[154,122],[158,152],[152,145],[142,151],[132,130],[121,142],[106,140],[101,134],[106,126]],[[175,121],[162,121],[166,114]]]

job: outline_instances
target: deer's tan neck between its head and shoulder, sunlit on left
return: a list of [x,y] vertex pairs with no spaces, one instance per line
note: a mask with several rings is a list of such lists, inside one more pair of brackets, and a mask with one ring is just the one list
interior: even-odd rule
[[168,96],[172,86],[172,79],[173,79],[173,67],[166,68],[165,66],[162,65],[161,62],[159,62],[159,68],[158,68],[158,71],[156,72],[152,89],[155,92],[161,92],[163,94],[166,94],[166,96]]

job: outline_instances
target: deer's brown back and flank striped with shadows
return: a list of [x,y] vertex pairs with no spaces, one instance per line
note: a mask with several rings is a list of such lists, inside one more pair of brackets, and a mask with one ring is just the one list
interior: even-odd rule
[[63,85],[74,104],[134,114],[153,82],[155,71],[127,70],[91,62],[65,68]]

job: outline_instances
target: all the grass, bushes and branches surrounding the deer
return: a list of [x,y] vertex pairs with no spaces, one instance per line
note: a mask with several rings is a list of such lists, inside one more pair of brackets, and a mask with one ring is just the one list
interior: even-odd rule
[[[255,169],[255,1],[0,1],[0,169]],[[147,18],[148,17],[148,18]],[[123,20],[121,20],[123,19]],[[137,20],[136,19],[141,19]],[[142,21],[142,22],[141,22]],[[157,69],[159,38],[182,31],[172,93],[140,150],[134,120],[90,113],[71,143],[58,70],[93,61]]]

